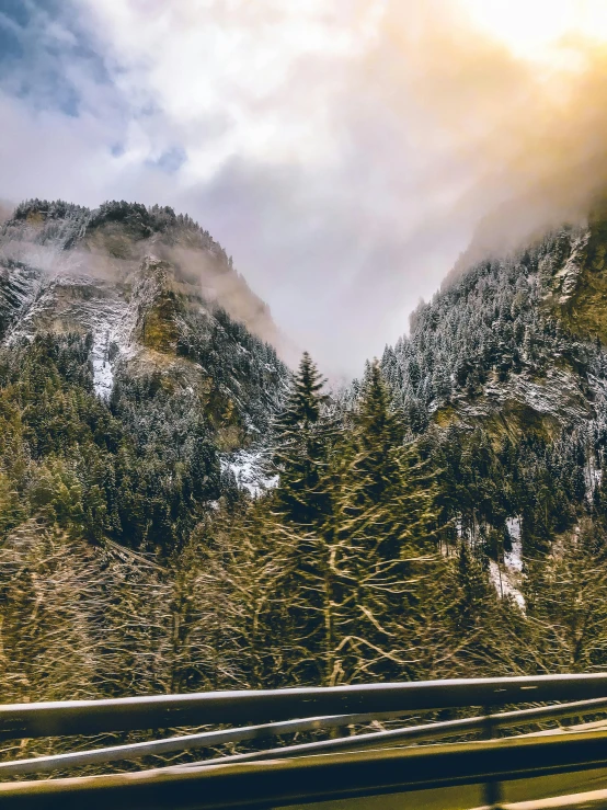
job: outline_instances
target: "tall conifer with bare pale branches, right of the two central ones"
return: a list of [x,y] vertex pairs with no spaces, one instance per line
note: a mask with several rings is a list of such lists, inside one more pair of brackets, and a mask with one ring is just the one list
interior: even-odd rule
[[[332,515],[320,537],[308,585],[323,634],[324,682],[406,677],[413,641],[426,623],[424,581],[434,573],[431,534],[435,487],[403,426],[376,363],[352,430],[335,444]],[[426,623],[427,624],[427,623]]]

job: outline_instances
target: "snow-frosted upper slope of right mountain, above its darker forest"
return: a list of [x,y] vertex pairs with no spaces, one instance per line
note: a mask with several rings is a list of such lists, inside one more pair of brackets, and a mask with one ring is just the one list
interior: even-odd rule
[[596,417],[607,365],[600,221],[471,267],[412,316],[382,367],[413,430],[479,423],[556,435]]

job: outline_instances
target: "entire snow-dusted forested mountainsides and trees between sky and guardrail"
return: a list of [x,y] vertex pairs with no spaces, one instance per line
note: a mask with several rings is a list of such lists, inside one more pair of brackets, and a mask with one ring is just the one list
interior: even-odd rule
[[337,396],[196,281],[184,240],[234,271],[187,218],[18,208],[4,699],[604,668],[604,237],[471,267]]

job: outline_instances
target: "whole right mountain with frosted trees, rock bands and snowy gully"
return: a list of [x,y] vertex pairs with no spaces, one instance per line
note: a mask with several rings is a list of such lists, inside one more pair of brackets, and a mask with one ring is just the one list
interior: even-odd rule
[[466,539],[520,605],[532,560],[572,533],[604,532],[606,256],[598,207],[584,224],[460,266],[381,360],[411,435],[440,470],[447,547]]

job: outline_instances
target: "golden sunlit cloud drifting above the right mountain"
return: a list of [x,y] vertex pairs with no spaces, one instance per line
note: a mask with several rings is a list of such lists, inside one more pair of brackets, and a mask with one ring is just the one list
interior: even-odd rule
[[572,30],[522,56],[467,7],[392,3],[365,73],[406,123],[426,219],[437,236],[461,228],[476,261],[584,218],[605,194],[607,45]]

